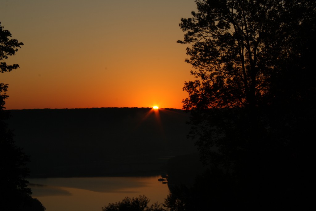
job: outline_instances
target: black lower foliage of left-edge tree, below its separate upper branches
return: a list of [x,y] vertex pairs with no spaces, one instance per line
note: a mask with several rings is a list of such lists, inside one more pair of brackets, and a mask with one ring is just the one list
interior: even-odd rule
[[[6,90],[0,90],[0,93]],[[3,95],[0,96],[3,100]],[[4,100],[3,100],[4,102]],[[46,210],[37,200],[31,197],[31,189],[25,179],[29,175],[26,167],[29,156],[15,145],[13,134],[8,129],[5,119],[8,111],[0,108],[0,209],[1,210]]]

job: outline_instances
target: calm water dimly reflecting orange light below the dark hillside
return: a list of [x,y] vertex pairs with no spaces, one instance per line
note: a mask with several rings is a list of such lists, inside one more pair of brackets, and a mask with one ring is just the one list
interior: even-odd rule
[[155,177],[95,178],[32,178],[28,179],[33,198],[47,211],[101,211],[108,203],[125,196],[145,195],[153,202],[163,203],[169,194],[167,184]]

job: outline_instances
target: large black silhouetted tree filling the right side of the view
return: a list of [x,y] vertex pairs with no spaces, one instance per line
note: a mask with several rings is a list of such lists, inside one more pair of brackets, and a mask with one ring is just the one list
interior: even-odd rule
[[178,43],[190,44],[197,78],[185,82],[183,107],[202,160],[227,174],[244,205],[301,203],[315,126],[315,1],[195,2]]

